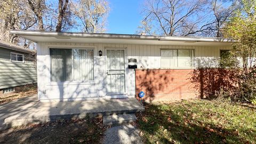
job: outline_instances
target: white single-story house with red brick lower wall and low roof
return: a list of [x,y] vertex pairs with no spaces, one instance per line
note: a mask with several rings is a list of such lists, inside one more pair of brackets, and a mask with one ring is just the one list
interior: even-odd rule
[[198,96],[190,76],[218,68],[228,39],[11,30],[37,43],[38,99],[145,100]]

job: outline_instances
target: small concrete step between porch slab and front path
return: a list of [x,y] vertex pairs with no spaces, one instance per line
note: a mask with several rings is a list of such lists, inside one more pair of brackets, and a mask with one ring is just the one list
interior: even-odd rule
[[137,120],[134,114],[114,114],[103,116],[103,125],[119,125],[123,123],[132,123]]

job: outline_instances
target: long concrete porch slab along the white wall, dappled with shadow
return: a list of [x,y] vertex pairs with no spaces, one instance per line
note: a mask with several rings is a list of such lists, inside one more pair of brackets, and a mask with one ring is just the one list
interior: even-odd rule
[[28,123],[85,116],[136,113],[144,108],[135,98],[86,101],[39,102],[36,95],[0,106],[0,129]]

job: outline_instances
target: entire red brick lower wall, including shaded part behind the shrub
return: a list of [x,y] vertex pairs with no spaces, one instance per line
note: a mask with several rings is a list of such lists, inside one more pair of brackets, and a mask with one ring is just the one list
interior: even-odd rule
[[145,92],[146,101],[213,98],[221,90],[236,89],[232,69],[136,69],[136,94]]

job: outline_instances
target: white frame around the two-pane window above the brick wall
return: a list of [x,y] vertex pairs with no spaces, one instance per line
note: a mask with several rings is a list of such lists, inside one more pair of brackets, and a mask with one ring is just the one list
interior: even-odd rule
[[[195,49],[160,49],[160,57],[162,59],[162,55],[161,55],[161,51],[162,50],[177,50],[177,67],[167,67],[167,68],[173,68],[173,69],[186,69],[186,68],[195,68],[194,66],[194,59],[195,59]],[[192,60],[191,60],[191,66],[190,67],[179,67],[179,61],[178,61],[178,57],[179,57],[179,50],[192,50],[193,54],[192,54]],[[160,67],[161,67],[161,60],[160,60]],[[164,68],[164,67],[161,67]]]

